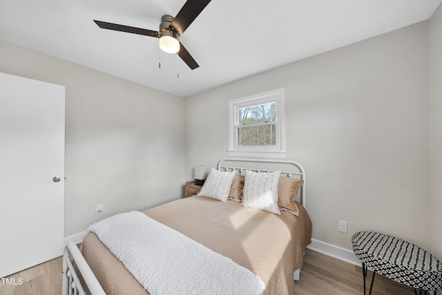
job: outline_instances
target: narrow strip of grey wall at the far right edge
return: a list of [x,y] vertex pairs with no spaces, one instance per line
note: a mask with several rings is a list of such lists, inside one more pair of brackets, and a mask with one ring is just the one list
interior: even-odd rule
[[442,5],[430,19],[431,242],[442,259]]

